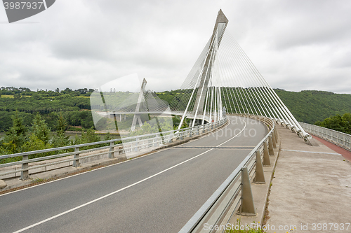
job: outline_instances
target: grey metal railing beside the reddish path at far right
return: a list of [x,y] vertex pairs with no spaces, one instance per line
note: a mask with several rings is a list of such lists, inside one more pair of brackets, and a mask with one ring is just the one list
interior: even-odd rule
[[333,129],[327,129],[324,127],[310,125],[303,122],[300,122],[300,125],[301,127],[303,127],[303,129],[305,129],[306,132],[315,136],[319,136],[320,138],[325,139],[326,141],[330,141],[331,143],[335,143],[336,145],[351,151],[350,134],[345,134]]

